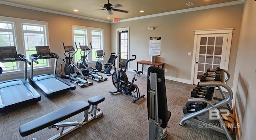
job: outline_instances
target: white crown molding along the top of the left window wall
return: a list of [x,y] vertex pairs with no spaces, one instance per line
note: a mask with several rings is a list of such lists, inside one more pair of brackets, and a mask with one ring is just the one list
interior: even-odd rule
[[26,9],[31,9],[31,10],[37,10],[37,11],[42,11],[42,12],[48,12],[48,13],[53,13],[53,14],[59,14],[59,15],[64,15],[64,16],[70,16],[70,17],[75,17],[75,18],[82,18],[82,19],[89,19],[89,20],[100,21],[100,22],[105,22],[105,23],[111,23],[110,21],[106,21],[106,20],[88,18],[85,16],[78,16],[78,15],[68,14],[68,13],[64,13],[64,12],[58,12],[58,11],[54,11],[54,10],[48,10],[48,9],[43,9],[43,8],[38,8],[38,7],[33,7],[33,6],[26,6],[23,4],[16,4],[16,3],[6,2],[6,1],[2,1],[2,0],[0,0],[0,4],[20,7],[20,8],[26,8]]

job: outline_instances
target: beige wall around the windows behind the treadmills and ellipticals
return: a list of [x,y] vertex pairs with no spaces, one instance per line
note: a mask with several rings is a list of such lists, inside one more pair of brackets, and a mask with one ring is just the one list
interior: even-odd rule
[[[64,42],[65,45],[72,45],[71,25],[102,28],[104,29],[104,51],[106,52],[107,58],[108,56],[110,56],[110,23],[103,23],[87,19],[62,16],[58,14],[51,14],[36,10],[17,8],[2,4],[0,4],[0,16],[48,21],[51,52],[55,52],[61,57],[64,57],[62,42]],[[107,58],[105,58],[105,60]],[[54,59],[52,59],[52,65],[54,65]],[[95,67],[95,63],[90,64],[90,66]],[[60,61],[58,61],[58,68],[60,68]],[[52,71],[53,69],[48,71],[46,70],[43,72],[35,72],[35,74],[49,73]],[[15,75],[15,77],[17,76],[17,78],[21,78],[23,77],[23,75],[24,74],[17,74]],[[10,78],[13,77],[1,76],[1,80],[7,80]]]

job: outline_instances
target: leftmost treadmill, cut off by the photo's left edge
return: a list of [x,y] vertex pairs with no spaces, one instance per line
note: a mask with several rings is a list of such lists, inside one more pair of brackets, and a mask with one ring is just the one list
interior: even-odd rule
[[24,78],[0,82],[0,113],[7,108],[41,100],[38,92],[29,84],[27,79],[27,64],[31,62],[24,54],[17,54],[16,47],[0,47],[0,62],[25,62]]

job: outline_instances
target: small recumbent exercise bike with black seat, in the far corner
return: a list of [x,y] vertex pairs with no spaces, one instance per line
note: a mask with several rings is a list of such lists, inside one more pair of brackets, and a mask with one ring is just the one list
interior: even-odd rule
[[110,71],[112,70],[112,65],[114,62],[114,57],[116,54],[116,52],[112,52],[108,58],[108,60],[106,61],[106,63],[103,65],[105,70],[102,71],[102,62],[100,62],[100,58],[103,58],[105,56],[105,52],[103,50],[98,50],[96,51],[96,58],[99,58],[98,61],[96,62],[96,66],[95,68],[99,71],[102,72],[104,74],[106,74],[107,76],[111,76],[112,73],[110,73]]

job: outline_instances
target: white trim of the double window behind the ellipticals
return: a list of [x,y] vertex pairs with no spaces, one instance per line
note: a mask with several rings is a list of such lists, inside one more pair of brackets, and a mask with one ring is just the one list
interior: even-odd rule
[[[86,26],[79,26],[79,25],[71,25],[71,31],[72,31],[72,44],[75,46],[74,43],[74,29],[84,29],[86,30],[86,45],[90,48],[89,43],[92,42],[92,31],[102,31],[102,50],[104,50],[104,29],[102,28],[95,28],[95,27],[86,27]],[[77,44],[78,45],[78,44]],[[104,59],[102,59],[104,61]],[[88,54],[88,64],[95,63],[96,60],[92,61],[92,53]]]

